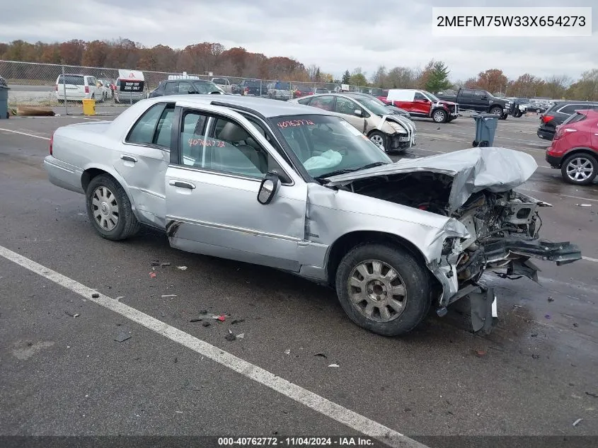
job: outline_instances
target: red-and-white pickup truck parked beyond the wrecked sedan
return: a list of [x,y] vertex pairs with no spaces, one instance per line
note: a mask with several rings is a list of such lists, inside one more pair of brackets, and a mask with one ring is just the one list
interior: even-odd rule
[[436,123],[445,123],[459,117],[459,105],[450,101],[439,100],[432,93],[411,88],[391,88],[386,98],[380,98],[386,104],[406,110],[412,117],[429,117]]

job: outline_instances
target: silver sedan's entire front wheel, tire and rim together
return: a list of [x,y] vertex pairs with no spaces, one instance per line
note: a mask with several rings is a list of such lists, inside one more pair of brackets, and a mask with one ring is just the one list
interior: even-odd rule
[[347,316],[379,335],[408,333],[430,309],[430,276],[398,246],[356,246],[340,261],[335,285]]

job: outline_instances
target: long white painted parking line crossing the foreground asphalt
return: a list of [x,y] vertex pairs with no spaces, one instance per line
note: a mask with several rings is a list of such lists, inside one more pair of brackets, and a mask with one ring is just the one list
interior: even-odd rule
[[99,297],[93,298],[91,295],[96,293],[95,290],[88,288],[69,277],[65,277],[50,268],[46,268],[39,263],[35,263],[35,261],[25,258],[23,255],[13,252],[4,246],[0,246],[0,255],[31,272],[35,272],[36,274],[47,278],[47,280],[50,280],[57,285],[70,289],[72,292],[81,295],[87,300],[91,300],[100,306],[104,306],[105,308],[110,309],[110,311],[114,311],[131,321],[139,323],[139,325],[149,328],[149,330],[155,331],[165,338],[190,348],[200,355],[208,357],[209,359],[222,364],[224,367],[228,367],[229,369],[238,372],[244,377],[253,379],[253,381],[263,384],[263,386],[267,386],[270,389],[297,401],[297,403],[301,403],[308,408],[316,410],[316,412],[321,413],[328,418],[332,418],[364,435],[379,440],[390,447],[428,448],[426,445],[420,444],[420,442],[417,442],[406,435],[391,430],[389,427],[381,425],[380,423],[340,406],[333,401],[314,394],[314,392],[308,391],[301,386],[297,386],[297,384],[287,381],[286,379],[277,377],[275,374],[268,372],[268,370],[262,369],[246,360],[242,360],[241,358],[217,348],[204,340],[195,338],[195,336],[185,333],[184,331],[180,331],[178,328],[170,326],[142,311],[132,308],[132,306],[122,304],[120,301],[103,294],[99,294]]

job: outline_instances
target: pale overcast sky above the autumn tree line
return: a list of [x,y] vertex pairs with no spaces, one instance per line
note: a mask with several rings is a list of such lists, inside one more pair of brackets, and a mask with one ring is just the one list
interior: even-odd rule
[[[587,38],[433,38],[432,6],[592,6]],[[510,78],[598,67],[595,0],[18,0],[0,13],[0,42],[129,38],[146,46],[197,42],[294,57],[340,76],[379,65],[423,67],[432,58],[466,79],[498,68]]]

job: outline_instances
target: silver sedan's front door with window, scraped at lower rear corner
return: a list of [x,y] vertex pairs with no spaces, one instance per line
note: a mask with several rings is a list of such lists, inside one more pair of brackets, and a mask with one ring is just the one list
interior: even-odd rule
[[[228,116],[182,111],[178,154],[166,171],[171,246],[298,271],[306,184],[284,171],[282,158],[250,122],[230,110],[222,114]],[[260,181],[271,171],[282,186],[262,205]]]

